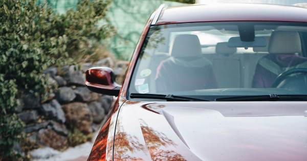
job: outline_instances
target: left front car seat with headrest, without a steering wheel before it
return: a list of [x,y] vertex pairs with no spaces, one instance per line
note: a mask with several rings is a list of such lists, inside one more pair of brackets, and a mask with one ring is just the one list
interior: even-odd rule
[[212,64],[201,56],[198,36],[174,36],[169,54],[157,68],[157,92],[217,88]]

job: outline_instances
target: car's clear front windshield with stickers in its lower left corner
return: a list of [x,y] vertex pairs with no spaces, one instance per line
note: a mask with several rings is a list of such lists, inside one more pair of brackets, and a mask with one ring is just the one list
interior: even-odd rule
[[205,22],[152,26],[128,95],[204,100],[307,95],[307,25]]

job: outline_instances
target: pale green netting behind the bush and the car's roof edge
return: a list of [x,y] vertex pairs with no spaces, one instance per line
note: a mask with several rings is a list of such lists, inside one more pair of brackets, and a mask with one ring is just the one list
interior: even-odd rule
[[[70,8],[76,9],[78,0],[37,0],[37,4],[43,2],[64,14]],[[114,0],[109,8],[107,21],[117,28],[120,36],[104,41],[108,50],[119,59],[129,60],[149,16],[163,3],[169,7],[183,5],[162,0]],[[100,25],[103,23],[105,22],[102,21]]]

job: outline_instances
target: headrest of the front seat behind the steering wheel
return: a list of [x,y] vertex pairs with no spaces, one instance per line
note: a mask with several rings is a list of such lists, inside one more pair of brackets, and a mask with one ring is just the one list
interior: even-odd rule
[[269,53],[270,54],[294,54],[301,53],[301,42],[296,31],[272,32]]

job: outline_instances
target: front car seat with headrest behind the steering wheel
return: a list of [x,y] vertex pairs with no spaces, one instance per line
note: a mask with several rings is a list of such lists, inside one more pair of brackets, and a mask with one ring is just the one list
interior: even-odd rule
[[269,54],[258,60],[252,87],[270,88],[278,75],[294,68],[307,68],[307,58],[301,57],[298,32],[273,31]]

